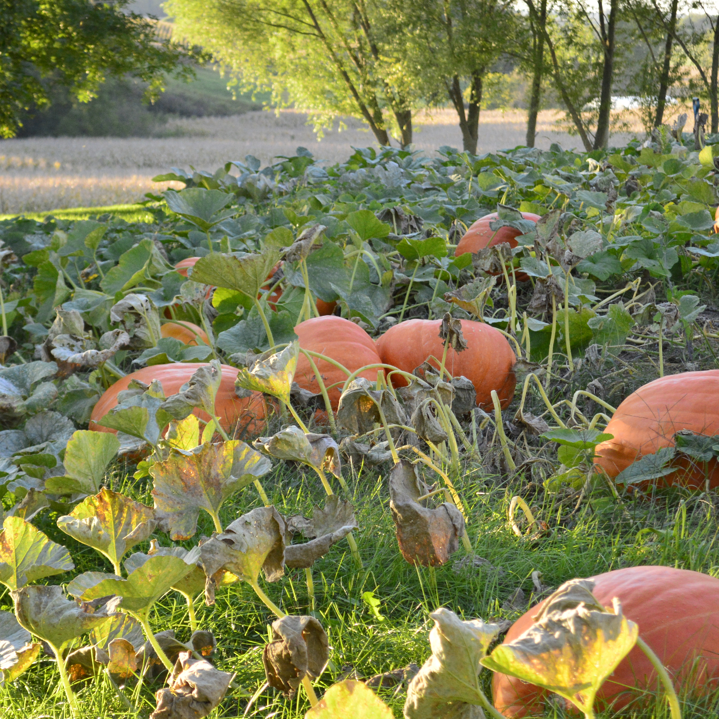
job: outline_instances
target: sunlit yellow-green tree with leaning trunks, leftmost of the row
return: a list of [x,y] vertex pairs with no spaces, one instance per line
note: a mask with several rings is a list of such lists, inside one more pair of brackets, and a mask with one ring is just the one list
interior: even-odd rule
[[245,89],[312,111],[315,129],[359,117],[380,145],[412,142],[415,96],[400,68],[395,19],[366,0],[169,0],[175,27]]

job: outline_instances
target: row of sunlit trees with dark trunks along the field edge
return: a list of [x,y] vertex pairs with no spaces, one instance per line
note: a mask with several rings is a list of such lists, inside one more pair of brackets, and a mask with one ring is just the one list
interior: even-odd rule
[[[688,4],[690,3],[690,4]],[[702,0],[168,0],[182,37],[243,89],[364,120],[380,145],[412,141],[413,111],[451,106],[476,152],[482,92],[510,65],[527,79],[526,144],[557,99],[587,150],[605,147],[613,94],[637,96],[645,127],[669,96],[698,94],[719,129],[719,22]]]

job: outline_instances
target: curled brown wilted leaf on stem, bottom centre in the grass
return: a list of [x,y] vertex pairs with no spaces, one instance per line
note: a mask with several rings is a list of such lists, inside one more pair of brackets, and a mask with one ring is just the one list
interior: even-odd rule
[[304,677],[316,679],[329,659],[329,641],[314,617],[286,616],[272,625],[273,640],[262,652],[270,687],[292,698]]

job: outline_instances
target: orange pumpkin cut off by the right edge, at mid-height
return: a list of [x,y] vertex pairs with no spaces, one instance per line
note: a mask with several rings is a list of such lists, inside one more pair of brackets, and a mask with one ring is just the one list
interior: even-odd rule
[[[597,445],[595,464],[616,477],[636,459],[654,454],[661,447],[674,446],[674,434],[689,429],[697,434],[719,434],[719,370],[681,372],[660,377],[618,406],[605,432],[613,434]],[[655,480],[660,485],[682,484],[703,488],[704,467],[688,457],[675,460],[677,472]],[[719,464],[708,466],[710,485],[719,485]],[[648,485],[649,482],[646,482]]]

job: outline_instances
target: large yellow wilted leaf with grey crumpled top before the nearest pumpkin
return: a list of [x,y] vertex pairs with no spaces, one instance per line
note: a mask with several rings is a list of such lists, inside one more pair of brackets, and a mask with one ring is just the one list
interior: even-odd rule
[[610,613],[592,595],[594,582],[570,580],[546,601],[535,623],[482,664],[544,687],[592,712],[604,680],[631,651],[638,627],[614,600]]

